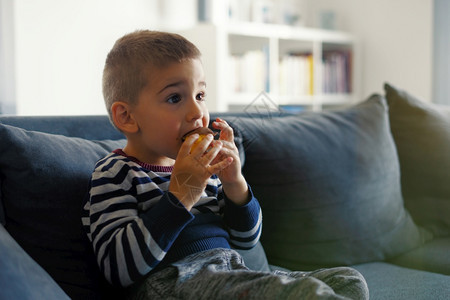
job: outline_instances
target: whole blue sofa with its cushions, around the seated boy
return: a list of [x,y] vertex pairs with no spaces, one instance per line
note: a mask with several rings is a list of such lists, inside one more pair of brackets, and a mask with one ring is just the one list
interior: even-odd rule
[[[234,128],[263,209],[250,268],[348,265],[371,299],[450,299],[450,110],[392,85],[285,113],[261,94]],[[0,116],[0,299],[122,299],[80,215],[94,163],[123,147],[106,116]]]

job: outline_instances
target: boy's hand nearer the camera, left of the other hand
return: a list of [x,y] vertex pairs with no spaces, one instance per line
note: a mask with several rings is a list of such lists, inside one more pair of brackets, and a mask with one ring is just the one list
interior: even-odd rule
[[[193,147],[198,137],[198,134],[193,134],[181,145],[169,184],[169,192],[175,195],[187,210],[191,210],[198,202],[211,175],[220,173],[233,162],[229,157],[214,159],[223,143],[213,141],[211,134]],[[206,152],[210,145],[212,147]]]

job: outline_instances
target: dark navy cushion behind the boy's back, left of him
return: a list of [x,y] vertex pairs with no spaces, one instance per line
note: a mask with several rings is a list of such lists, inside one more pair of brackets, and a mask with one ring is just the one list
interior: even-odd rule
[[81,209],[95,162],[121,141],[88,141],[0,124],[6,229],[71,298],[95,298],[103,279]]

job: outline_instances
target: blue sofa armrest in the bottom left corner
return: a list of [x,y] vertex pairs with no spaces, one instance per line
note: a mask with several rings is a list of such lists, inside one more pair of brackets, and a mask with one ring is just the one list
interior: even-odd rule
[[0,225],[0,299],[69,299]]

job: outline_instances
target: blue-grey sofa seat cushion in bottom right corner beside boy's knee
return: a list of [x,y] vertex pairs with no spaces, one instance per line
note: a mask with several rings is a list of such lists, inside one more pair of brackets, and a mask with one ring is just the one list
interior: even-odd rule
[[450,296],[450,276],[375,262],[353,266],[367,281],[371,300],[444,300]]

